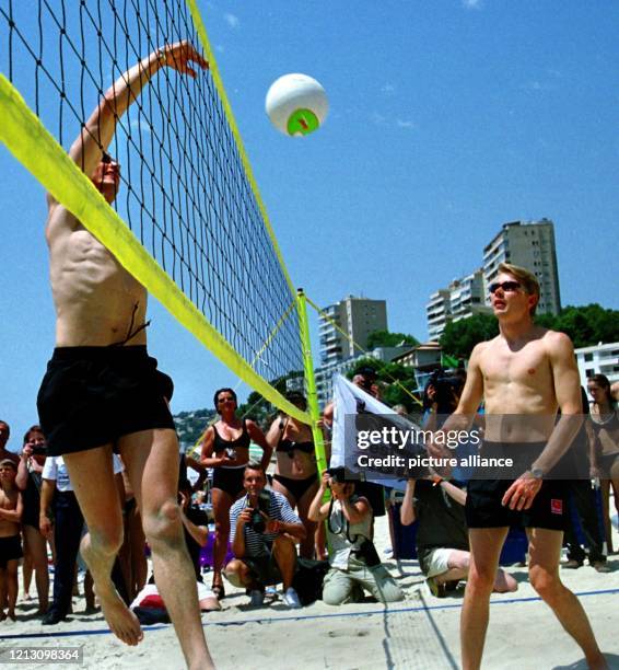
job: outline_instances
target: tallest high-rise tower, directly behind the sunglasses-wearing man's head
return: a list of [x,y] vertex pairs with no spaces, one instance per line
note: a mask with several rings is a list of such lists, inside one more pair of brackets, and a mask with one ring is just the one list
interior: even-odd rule
[[[533,273],[539,281],[538,314],[558,314],[561,310],[559,272],[554,246],[554,226],[549,219],[512,221],[483,249],[483,278],[490,285],[501,263],[513,263]],[[486,297],[490,304],[489,296]]]

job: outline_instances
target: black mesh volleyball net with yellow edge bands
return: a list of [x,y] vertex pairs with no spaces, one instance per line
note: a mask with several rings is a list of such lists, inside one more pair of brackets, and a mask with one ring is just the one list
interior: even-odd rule
[[[311,370],[304,308],[196,0],[0,0],[0,37],[8,149],[234,374],[310,423],[276,389]],[[68,148],[118,78],[182,41],[210,69],[194,79],[162,67],[117,118],[109,206]]]

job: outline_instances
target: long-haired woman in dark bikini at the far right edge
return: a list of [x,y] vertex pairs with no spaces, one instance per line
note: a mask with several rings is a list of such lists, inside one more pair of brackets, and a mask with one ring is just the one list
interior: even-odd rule
[[604,525],[608,553],[612,554],[612,527],[610,524],[610,487],[615,494],[615,507],[619,513],[619,411],[610,394],[610,382],[605,374],[594,374],[587,380],[591,405],[591,425],[595,449],[592,458],[592,477],[599,478],[604,508]]

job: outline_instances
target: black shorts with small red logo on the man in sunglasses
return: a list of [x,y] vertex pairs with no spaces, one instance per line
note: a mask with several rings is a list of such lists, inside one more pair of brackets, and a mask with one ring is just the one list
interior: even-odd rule
[[[484,442],[480,455],[513,458],[523,474],[546,443]],[[465,505],[468,528],[542,528],[562,531],[567,523],[565,490],[560,480],[545,480],[529,509],[517,511],[501,504],[514,480],[470,480]]]

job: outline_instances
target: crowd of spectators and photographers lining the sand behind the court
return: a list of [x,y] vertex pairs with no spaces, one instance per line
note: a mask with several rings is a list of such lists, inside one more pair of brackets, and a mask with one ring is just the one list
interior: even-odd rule
[[[436,430],[454,411],[464,378],[464,370],[440,371],[431,378],[424,390],[424,428]],[[353,383],[374,396],[379,394],[373,370],[362,370]],[[619,500],[619,415],[607,378],[592,377],[587,391],[591,401],[583,389],[583,413],[588,416],[574,451],[579,443],[585,444],[576,457],[581,463],[585,459],[588,478],[569,483],[573,512],[565,528],[568,559],[563,567],[579,568],[588,558],[597,571],[606,573],[606,556],[614,551],[610,490],[616,505]],[[306,408],[300,393],[290,394],[288,400],[302,411]],[[401,600],[404,593],[373,543],[374,518],[385,512],[384,487],[354,482],[344,469],[329,469],[319,475],[312,430],[293,417],[278,414],[265,426],[265,435],[256,423],[237,416],[233,390],[220,389],[214,402],[218,420],[206,428],[199,457],[182,457],[179,464],[178,504],[201,609],[221,609],[220,600],[225,598],[223,577],[245,588],[253,607],[262,605],[267,596],[272,598],[275,587],[281,584],[281,602],[300,608],[307,599],[300,598],[295,588],[299,575],[310,575],[320,563],[324,580],[316,596],[322,592],[328,604],[359,602],[365,592],[381,602]],[[397,408],[399,414],[405,411],[402,406]],[[331,404],[322,423],[327,438],[332,414]],[[479,417],[482,426],[482,408]],[[0,420],[0,620],[16,617],[17,567],[22,565],[24,604],[36,608],[35,615],[40,615],[45,625],[55,625],[72,613],[73,598],[79,593],[78,575],[80,567],[85,567],[79,555],[80,541],[87,528],[62,458],[46,455],[40,427],[33,425],[26,431],[19,454],[7,449],[9,438],[10,426]],[[256,448],[261,450],[257,452],[259,459],[252,458],[250,451]],[[276,454],[272,475],[267,474],[271,453]],[[152,576],[148,579],[148,546],[140,510],[120,458],[114,455],[114,461],[125,538],[113,580],[127,603],[148,611],[141,603],[151,602],[156,588]],[[191,475],[190,470],[195,471]],[[397,509],[401,524],[417,523],[419,566],[437,597],[447,596],[467,579],[470,553],[464,515],[466,495],[462,473],[428,472],[408,480]],[[213,544],[211,589],[202,577],[209,535]],[[322,561],[326,544],[328,565]],[[94,612],[92,579],[87,570],[82,571],[85,612]],[[312,575],[316,574],[314,569]],[[33,576],[36,596],[31,593]],[[499,568],[494,590],[516,588],[514,578]]]

